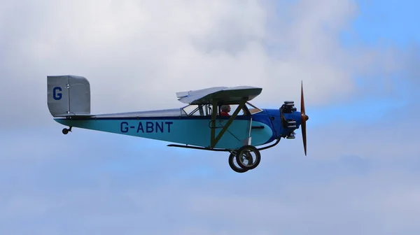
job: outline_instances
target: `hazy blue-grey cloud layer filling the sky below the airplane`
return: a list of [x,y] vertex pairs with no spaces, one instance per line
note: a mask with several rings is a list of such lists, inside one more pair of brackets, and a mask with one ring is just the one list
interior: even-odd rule
[[[83,129],[64,136],[56,127],[7,133],[0,220],[8,222],[0,231],[414,234],[418,130],[391,138],[383,127],[392,119],[310,125],[308,157],[300,137],[282,140],[246,174],[220,152],[130,136]],[[252,218],[246,227],[244,216]]]

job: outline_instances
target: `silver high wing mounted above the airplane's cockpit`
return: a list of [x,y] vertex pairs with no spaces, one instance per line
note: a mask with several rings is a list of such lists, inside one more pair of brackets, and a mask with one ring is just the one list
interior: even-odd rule
[[213,101],[220,101],[223,104],[238,104],[244,99],[251,101],[261,92],[262,88],[250,86],[210,87],[189,92],[176,92],[176,97],[185,104],[212,104]]

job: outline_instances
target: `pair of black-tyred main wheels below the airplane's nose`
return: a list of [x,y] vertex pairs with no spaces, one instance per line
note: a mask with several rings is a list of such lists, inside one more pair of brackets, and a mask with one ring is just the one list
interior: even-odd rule
[[[234,160],[236,160],[239,167],[235,166]],[[238,173],[255,169],[260,164],[260,161],[260,151],[252,145],[244,145],[229,156],[230,168]]]

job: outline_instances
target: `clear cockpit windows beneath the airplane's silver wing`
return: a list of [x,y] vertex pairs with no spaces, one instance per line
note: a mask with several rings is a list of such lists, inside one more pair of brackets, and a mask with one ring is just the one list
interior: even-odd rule
[[[239,104],[230,104],[230,115],[237,109]],[[190,104],[181,108],[181,115],[183,116],[211,116],[213,106],[211,104]],[[254,113],[259,113],[262,110],[253,106],[253,104],[246,102],[245,106],[241,108],[238,115],[253,115]],[[221,113],[221,106],[218,106],[217,115]]]

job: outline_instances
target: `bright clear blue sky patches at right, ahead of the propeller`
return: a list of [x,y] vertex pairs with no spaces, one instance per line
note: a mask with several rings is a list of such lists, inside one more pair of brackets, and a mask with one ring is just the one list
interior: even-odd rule
[[[341,32],[342,45],[349,48],[362,46],[380,48],[381,50],[389,48],[397,48],[402,51],[414,49],[412,52],[417,53],[418,59],[420,28],[416,24],[416,9],[420,7],[419,1],[404,1],[402,3],[401,1],[372,0],[357,1],[357,5],[358,15],[349,22],[349,27]],[[419,64],[420,62],[416,60],[412,63]],[[378,115],[381,118],[392,110],[408,106],[412,99],[419,97],[413,92],[415,87],[412,87],[411,83],[407,83],[405,71],[398,71],[391,76],[393,76],[393,88],[396,94],[378,97],[376,93],[369,94],[369,90],[365,90],[365,93],[360,97],[354,96],[345,105],[325,106],[322,109],[308,107],[309,111],[318,117],[326,115],[350,122],[358,120],[360,113],[363,113],[363,120],[374,122]],[[366,85],[366,78],[363,76],[354,79],[360,87]],[[419,80],[419,78],[411,79]],[[375,85],[380,89],[383,84],[379,82]],[[418,106],[418,102],[414,102]],[[312,118],[311,120],[322,122],[322,124],[328,122],[321,118],[315,120]]]

